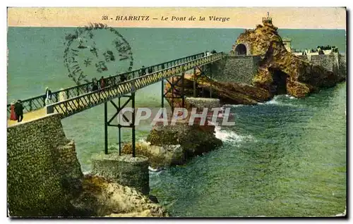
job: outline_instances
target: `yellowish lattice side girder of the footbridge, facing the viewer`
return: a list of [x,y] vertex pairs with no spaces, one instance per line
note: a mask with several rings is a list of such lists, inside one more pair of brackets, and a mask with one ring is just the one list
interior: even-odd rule
[[112,100],[116,97],[121,97],[128,93],[134,92],[137,89],[142,89],[143,87],[152,85],[155,82],[160,82],[161,80],[172,77],[173,75],[186,72],[186,70],[191,70],[196,66],[203,66],[205,64],[212,63],[222,57],[223,53],[220,52],[210,56],[196,58],[193,61],[186,61],[170,68],[157,70],[154,73],[135,77],[119,84],[109,85],[104,89],[99,89],[95,92],[89,92],[78,97],[73,97],[71,99],[66,99],[65,101],[59,101],[55,104],[51,104],[47,106],[47,113],[60,113],[62,118],[65,118],[80,111],[84,111],[85,109],[97,106],[98,104]]

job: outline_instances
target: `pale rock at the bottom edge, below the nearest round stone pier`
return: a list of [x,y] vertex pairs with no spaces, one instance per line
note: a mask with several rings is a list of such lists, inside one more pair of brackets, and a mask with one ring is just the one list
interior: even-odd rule
[[135,189],[98,175],[85,175],[83,191],[71,203],[74,216],[168,216],[161,206]]

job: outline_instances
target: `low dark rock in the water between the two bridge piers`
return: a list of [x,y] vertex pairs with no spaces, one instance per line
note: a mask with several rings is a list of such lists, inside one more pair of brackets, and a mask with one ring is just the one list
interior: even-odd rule
[[[147,156],[152,168],[165,168],[184,164],[190,158],[222,145],[214,135],[215,126],[189,125],[186,121],[189,120],[178,120],[176,125],[157,123],[147,142],[136,144],[136,154]],[[131,154],[131,144],[124,145],[122,152]]]

